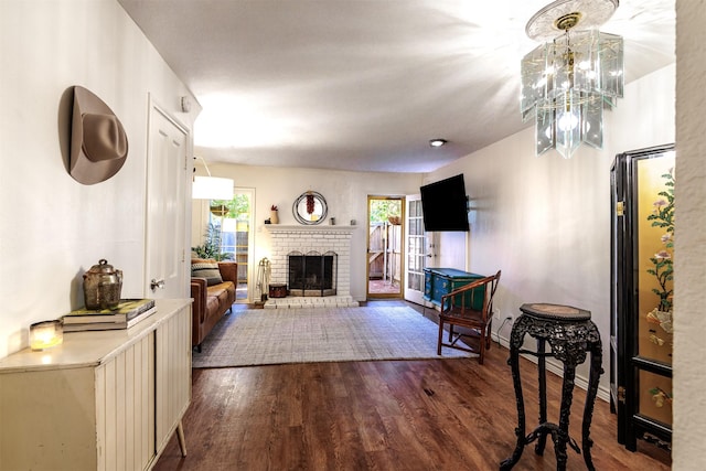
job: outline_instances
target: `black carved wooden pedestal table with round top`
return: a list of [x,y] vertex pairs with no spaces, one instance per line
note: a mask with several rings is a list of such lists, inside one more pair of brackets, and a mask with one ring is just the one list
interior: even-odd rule
[[[580,448],[576,440],[569,437],[569,415],[574,397],[574,379],[576,366],[586,361],[586,354],[590,353],[590,374],[586,405],[584,407],[584,422],[581,428],[581,445],[584,448],[584,461],[589,470],[593,470],[591,460],[592,440],[589,438],[591,419],[593,417],[593,404],[598,393],[598,381],[603,373],[602,345],[600,333],[591,321],[590,311],[549,303],[531,303],[520,307],[522,314],[516,319],[510,336],[510,358],[507,363],[512,368],[512,379],[515,386],[517,402],[517,443],[512,457],[500,464],[501,470],[510,470],[520,460],[524,447],[537,441],[535,452],[544,453],[547,435],[552,436],[556,453],[556,469],[566,469],[566,447],[571,447],[577,453]],[[525,334],[530,334],[537,341],[537,351],[522,350]],[[545,344],[549,342],[550,352],[545,351]],[[537,371],[539,381],[539,426],[530,435],[525,435],[525,403],[522,395],[522,382],[520,379],[520,354],[530,354],[537,357]],[[547,421],[547,386],[546,386],[546,357],[555,357],[564,363],[564,381],[561,385],[561,406],[559,410],[559,424]]]

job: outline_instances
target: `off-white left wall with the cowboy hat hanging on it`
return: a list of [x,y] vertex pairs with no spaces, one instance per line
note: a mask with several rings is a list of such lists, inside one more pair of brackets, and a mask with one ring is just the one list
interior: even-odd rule
[[[0,1],[0,71],[2,357],[26,346],[32,322],[83,306],[100,258],[124,270],[124,297],[145,296],[148,94],[189,127],[199,109],[179,113],[189,90],[115,0]],[[129,140],[122,169],[90,186],[64,167],[73,85],[106,101]]]

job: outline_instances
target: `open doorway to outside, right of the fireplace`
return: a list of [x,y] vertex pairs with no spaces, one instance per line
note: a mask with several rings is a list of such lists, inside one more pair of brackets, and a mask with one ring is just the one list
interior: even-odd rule
[[402,298],[404,196],[367,196],[367,298]]

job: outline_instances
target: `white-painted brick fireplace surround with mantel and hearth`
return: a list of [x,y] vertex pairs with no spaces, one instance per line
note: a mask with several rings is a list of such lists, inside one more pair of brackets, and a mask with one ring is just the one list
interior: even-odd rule
[[332,253],[336,256],[335,296],[270,298],[265,308],[359,306],[351,297],[351,238],[354,226],[265,225],[271,236],[270,283],[287,283],[292,253]]

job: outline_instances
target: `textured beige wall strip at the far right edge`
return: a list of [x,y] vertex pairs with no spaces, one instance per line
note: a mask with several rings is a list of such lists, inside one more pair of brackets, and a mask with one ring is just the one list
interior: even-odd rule
[[676,1],[673,469],[706,469],[706,1]]

